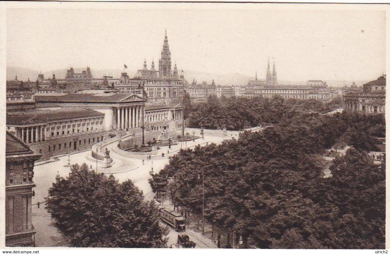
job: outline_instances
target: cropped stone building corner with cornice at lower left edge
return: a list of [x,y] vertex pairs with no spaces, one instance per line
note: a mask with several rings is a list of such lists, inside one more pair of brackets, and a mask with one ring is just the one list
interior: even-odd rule
[[34,162],[41,155],[8,131],[5,138],[5,246],[33,247]]

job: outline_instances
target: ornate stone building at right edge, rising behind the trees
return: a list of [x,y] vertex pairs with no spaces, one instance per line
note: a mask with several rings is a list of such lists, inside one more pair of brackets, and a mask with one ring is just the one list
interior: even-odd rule
[[362,89],[358,89],[356,85],[346,89],[343,100],[346,110],[366,114],[385,114],[386,74],[363,84]]

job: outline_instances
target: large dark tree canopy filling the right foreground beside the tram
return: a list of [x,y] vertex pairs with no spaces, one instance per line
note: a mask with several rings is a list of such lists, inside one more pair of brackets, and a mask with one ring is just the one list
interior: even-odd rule
[[[234,103],[229,105],[240,107]],[[301,109],[305,102],[285,105],[280,98],[263,103],[273,104],[261,111],[271,113],[252,123],[271,122],[273,127],[243,132],[221,145],[181,150],[170,158],[159,175],[173,177],[169,188],[174,202],[200,214],[199,175],[204,174],[207,221],[239,232],[245,247],[384,248],[385,164],[374,165],[367,156],[376,145],[372,133],[384,133],[384,116],[327,116]],[[190,119],[195,126],[224,124],[220,101],[203,107],[209,113]],[[239,110],[234,117],[249,114]],[[206,126],[210,119],[218,121]],[[335,144],[354,148],[331,163],[333,177],[323,178],[322,154]]]

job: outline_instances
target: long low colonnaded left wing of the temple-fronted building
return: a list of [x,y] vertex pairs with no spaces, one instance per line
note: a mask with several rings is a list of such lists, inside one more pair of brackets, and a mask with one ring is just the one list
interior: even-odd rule
[[7,130],[42,154],[82,151],[106,138],[104,114],[93,110],[33,110],[7,114]]

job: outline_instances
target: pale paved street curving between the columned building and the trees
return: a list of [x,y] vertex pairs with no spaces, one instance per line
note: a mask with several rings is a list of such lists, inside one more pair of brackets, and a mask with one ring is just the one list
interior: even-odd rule
[[[192,131],[195,130],[195,136],[200,137],[199,129],[191,129]],[[187,130],[186,130],[187,131]],[[190,131],[188,131],[190,133]],[[222,131],[221,131],[222,133]],[[215,137],[215,136],[209,136],[204,135],[204,139],[198,138],[195,140],[195,142],[187,141],[187,142],[179,142],[178,145],[174,145],[171,147],[171,149],[168,149],[168,147],[161,147],[160,150],[158,150],[158,154],[161,155],[161,153],[165,154],[165,159],[152,159],[152,160],[145,160],[144,165],[142,164],[142,159],[133,159],[128,158],[119,154],[116,154],[115,152],[111,152],[110,156],[114,160],[114,164],[111,168],[101,168],[100,165],[97,167],[98,172],[104,172],[107,174],[113,174],[115,178],[119,180],[119,182],[123,182],[124,180],[131,179],[135,186],[137,186],[141,191],[143,191],[144,196],[147,200],[151,200],[153,197],[153,193],[151,191],[151,187],[149,185],[148,179],[150,178],[149,171],[152,168],[153,163],[153,171],[155,173],[160,172],[160,170],[168,164],[168,156],[172,154],[176,154],[177,151],[180,150],[181,147],[185,148],[191,147],[198,144],[203,144],[205,142],[211,142],[215,144],[220,144],[224,139],[238,136],[238,131],[227,131],[227,136],[221,136],[221,137]],[[117,142],[111,144],[108,148],[110,151],[112,151],[112,146],[117,145]],[[169,150],[169,154],[168,154]],[[87,165],[92,165],[92,168],[96,170],[96,163],[93,163],[92,161],[89,161],[86,159],[86,155],[90,153],[89,151],[79,152],[76,154],[70,155],[70,163],[71,164],[82,164],[87,163]],[[44,197],[47,196],[47,190],[51,187],[52,182],[55,181],[55,176],[57,175],[57,172],[60,176],[67,176],[70,168],[64,167],[64,165],[67,164],[68,156],[62,156],[58,158],[58,161],[54,161],[51,163],[36,165],[34,167],[34,182],[37,185],[37,187],[34,188],[35,196],[32,198],[32,222],[35,227],[35,230],[37,231],[35,235],[35,245],[37,247],[54,247],[54,246],[67,246],[66,242],[64,240],[64,237],[60,234],[58,229],[54,225],[54,221],[50,218],[50,214],[46,212],[44,209],[44,204],[41,204],[38,208],[36,203],[44,202]],[[173,239],[170,238],[168,243],[175,243],[177,240],[177,233],[172,231],[168,236],[172,236]],[[193,242],[197,242],[196,239],[191,239]],[[201,243],[200,243],[201,246]]]

